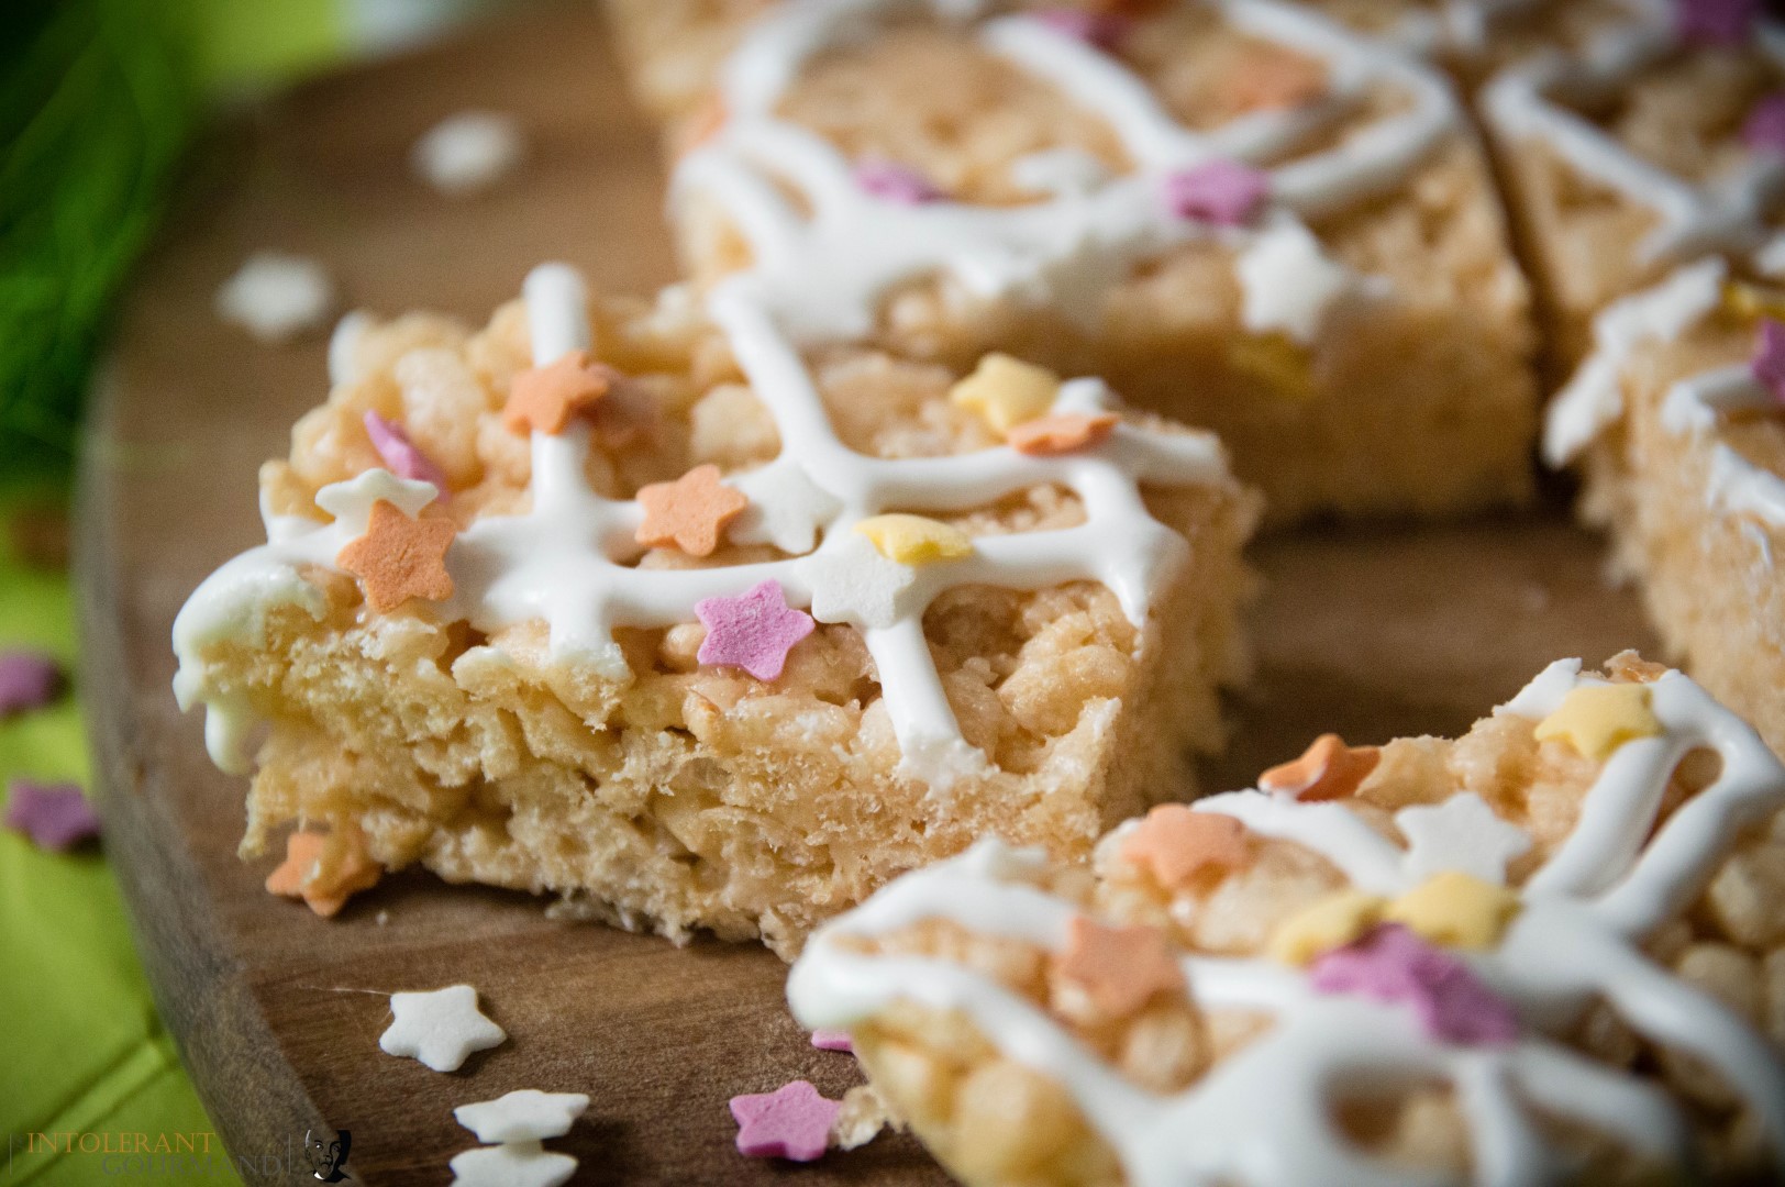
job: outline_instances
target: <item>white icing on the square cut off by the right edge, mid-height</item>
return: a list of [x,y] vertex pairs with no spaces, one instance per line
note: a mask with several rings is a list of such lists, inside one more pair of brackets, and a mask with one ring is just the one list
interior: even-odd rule
[[[1717,309],[1726,273],[1721,259],[1705,259],[1599,314],[1594,353],[1549,405],[1544,457],[1551,466],[1574,461],[1623,416],[1623,373],[1631,352],[1644,341],[1671,343]],[[1755,378],[1753,368],[1735,362],[1678,380],[1662,398],[1658,419],[1671,434],[1712,437],[1731,412],[1776,412],[1778,407],[1778,396]],[[1723,514],[1785,527],[1785,478],[1733,446],[1712,441],[1705,503]]]

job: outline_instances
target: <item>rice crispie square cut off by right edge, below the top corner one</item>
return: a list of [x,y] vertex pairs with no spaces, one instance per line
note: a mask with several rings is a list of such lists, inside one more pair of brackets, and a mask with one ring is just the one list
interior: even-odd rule
[[1681,268],[1601,314],[1544,450],[1671,653],[1785,753],[1785,291]]

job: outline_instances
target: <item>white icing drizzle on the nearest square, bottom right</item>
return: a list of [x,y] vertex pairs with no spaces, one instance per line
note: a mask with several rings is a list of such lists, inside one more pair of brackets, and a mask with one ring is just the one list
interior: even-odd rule
[[[1496,712],[1542,718],[1590,682],[1580,660],[1558,660]],[[1533,1123],[1533,1107],[1690,1173],[1685,1116],[1658,1085],[1553,1037],[1603,998],[1639,1033],[1717,1069],[1753,1108],[1785,1166],[1785,1062],[1748,1023],[1639,948],[1703,892],[1739,832],[1785,807],[1785,768],[1687,677],[1667,673],[1649,689],[1664,735],[1626,743],[1605,764],[1573,835],[1519,887],[1523,910],[1499,948],[1457,953],[1530,1028],[1512,1046],[1439,1042],[1410,1010],[1316,994],[1299,969],[1267,960],[1183,957],[1187,985],[1203,1009],[1269,1012],[1274,1028],[1189,1089],[1155,1094],[991,980],[942,960],[869,957],[839,944],[951,919],[984,935],[1060,950],[1076,909],[1034,885],[1044,857],[996,839],[900,878],[821,928],[789,976],[789,1001],[801,1025],[826,1028],[855,1026],[901,1000],[966,1014],[1009,1058],[1064,1085],[1135,1187],[1446,1182],[1366,1155],[1332,1121],[1330,1105],[1348,1087],[1414,1082],[1457,1089],[1471,1137],[1469,1182],[1483,1187],[1544,1182],[1565,1169]],[[1717,751],[1721,775],[1644,843],[1674,766],[1698,748]],[[1424,876],[1419,862],[1339,805],[1248,791],[1194,807],[1303,844],[1366,891],[1396,894]],[[1503,859],[1512,846],[1499,837],[1487,848]]]

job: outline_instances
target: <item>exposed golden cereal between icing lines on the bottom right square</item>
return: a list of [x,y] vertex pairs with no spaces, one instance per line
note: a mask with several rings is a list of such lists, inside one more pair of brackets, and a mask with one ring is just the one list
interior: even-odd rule
[[[1608,666],[1608,675],[1644,680],[1653,678],[1653,669],[1626,655]],[[1533,837],[1533,853],[1510,869],[1519,884],[1573,828],[1598,769],[1562,743],[1537,743],[1528,719],[1485,718],[1455,741],[1389,743],[1358,796],[1342,803],[1399,839],[1394,810],[1474,791],[1498,816]],[[1681,764],[1669,791],[1671,809],[1712,775],[1698,759]],[[1125,834],[1119,828],[1098,846],[1094,876],[1055,869],[1041,889],[1110,925],[1164,928],[1189,951],[1258,955],[1278,921],[1344,885],[1339,871],[1316,853],[1253,837],[1246,867],[1169,889],[1153,878],[1150,866],[1125,859]],[[1785,910],[1778,900],[1756,892],[1756,878],[1785,878],[1785,816],[1744,837],[1703,900],[1648,946],[1655,959],[1726,1001],[1785,1050],[1780,1007]],[[1737,884],[1744,889],[1731,891]],[[862,951],[923,955],[973,969],[1048,1012],[1125,1078],[1157,1092],[1198,1082],[1269,1026],[1266,1016],[1207,1010],[1183,994],[1158,996],[1128,1017],[1087,1016],[1082,1001],[1050,976],[1044,950],[978,935],[951,921],[930,919],[875,941],[846,942]],[[901,1001],[868,1019],[853,1039],[889,1105],[962,1182],[973,1187],[1123,1182],[1114,1151],[1066,1091],[998,1051],[964,1016]],[[1719,1182],[1748,1182],[1742,1176],[1764,1166],[1753,1119],[1701,1066],[1646,1044],[1605,1009],[1589,1012],[1571,1042],[1683,1098]],[[1448,1089],[1383,1089],[1348,1098],[1339,1117],[1353,1141],[1399,1166],[1448,1175],[1469,1166],[1467,1133]],[[1578,1182],[1648,1183],[1664,1173],[1578,1125],[1553,1117],[1542,1117],[1540,1125],[1582,1160]]]

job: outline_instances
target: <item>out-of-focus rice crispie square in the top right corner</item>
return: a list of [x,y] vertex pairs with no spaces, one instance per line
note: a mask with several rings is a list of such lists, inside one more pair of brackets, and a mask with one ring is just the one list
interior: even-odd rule
[[1558,378],[1605,305],[1681,264],[1785,271],[1781,29],[1760,5],[1639,9],[1480,96]]

